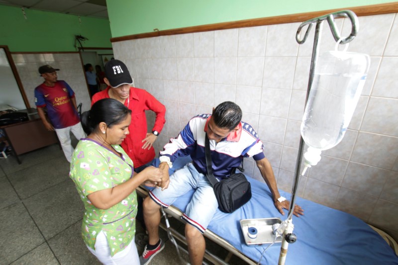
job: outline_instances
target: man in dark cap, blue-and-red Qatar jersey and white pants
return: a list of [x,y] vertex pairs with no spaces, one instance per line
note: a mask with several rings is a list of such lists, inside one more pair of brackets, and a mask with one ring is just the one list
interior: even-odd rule
[[[49,65],[39,67],[44,82],[34,89],[34,102],[46,129],[57,133],[65,157],[70,163],[73,153],[70,133],[78,140],[85,138],[86,134],[80,123],[75,92],[65,81],[58,81],[56,71],[59,69]],[[45,107],[49,120],[44,112]]]

